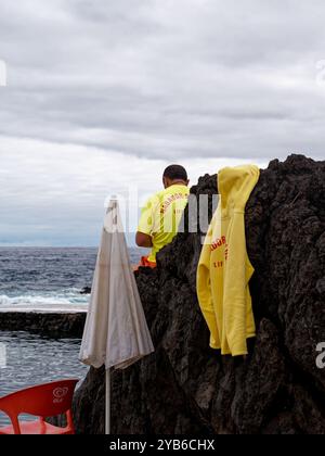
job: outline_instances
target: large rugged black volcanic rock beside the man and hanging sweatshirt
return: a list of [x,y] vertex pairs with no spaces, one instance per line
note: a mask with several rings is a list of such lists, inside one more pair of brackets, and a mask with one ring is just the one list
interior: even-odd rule
[[[216,192],[216,176],[192,188]],[[209,349],[195,292],[200,235],[179,233],[157,270],[136,275],[156,352],[113,373],[113,433],[325,433],[325,162],[271,162],[246,231],[258,329],[249,356]],[[104,432],[104,370],[91,369],[75,397],[79,432]]]

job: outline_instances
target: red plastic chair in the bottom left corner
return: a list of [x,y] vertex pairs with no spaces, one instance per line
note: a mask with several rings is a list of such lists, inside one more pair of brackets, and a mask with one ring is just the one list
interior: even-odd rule
[[[0,398],[0,411],[11,419],[12,426],[0,428],[0,435],[11,434],[74,434],[73,396],[79,380],[62,380],[17,391]],[[20,415],[39,417],[37,421],[21,421]],[[46,418],[66,415],[66,428],[46,422]]]

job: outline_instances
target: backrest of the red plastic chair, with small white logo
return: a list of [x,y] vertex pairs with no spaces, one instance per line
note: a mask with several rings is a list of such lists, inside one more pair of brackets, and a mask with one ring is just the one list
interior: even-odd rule
[[11,418],[21,414],[44,418],[66,414],[78,381],[62,380],[17,391],[0,398],[0,410]]

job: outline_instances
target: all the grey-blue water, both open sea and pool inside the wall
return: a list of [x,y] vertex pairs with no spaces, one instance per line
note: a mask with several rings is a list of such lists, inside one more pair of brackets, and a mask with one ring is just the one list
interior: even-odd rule
[[[130,249],[133,264],[143,250]],[[87,309],[96,249],[1,249],[0,309]],[[27,332],[0,331],[0,397],[57,379],[82,380],[80,340],[52,340]],[[31,417],[24,417],[31,419]],[[0,413],[0,426],[8,418]]]

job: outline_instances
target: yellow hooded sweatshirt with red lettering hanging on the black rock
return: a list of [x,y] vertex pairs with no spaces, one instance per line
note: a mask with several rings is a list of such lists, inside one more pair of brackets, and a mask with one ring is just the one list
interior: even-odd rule
[[245,207],[259,176],[255,165],[219,172],[220,201],[199,258],[197,296],[211,333],[210,346],[221,349],[222,355],[247,355],[247,339],[256,335]]

